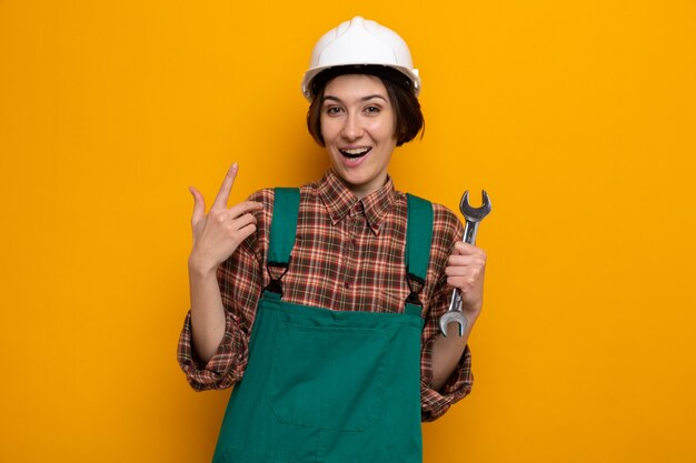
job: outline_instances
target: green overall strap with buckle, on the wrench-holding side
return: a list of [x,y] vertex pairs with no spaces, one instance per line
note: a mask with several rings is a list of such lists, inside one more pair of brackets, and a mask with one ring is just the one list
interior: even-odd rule
[[[408,285],[411,290],[406,305],[420,305],[418,291],[414,289],[411,280],[419,283],[420,289],[426,282],[428,263],[430,261],[430,245],[432,241],[432,204],[430,201],[406,194],[408,204],[408,221],[406,225],[406,270]],[[412,309],[411,309],[412,310]]]

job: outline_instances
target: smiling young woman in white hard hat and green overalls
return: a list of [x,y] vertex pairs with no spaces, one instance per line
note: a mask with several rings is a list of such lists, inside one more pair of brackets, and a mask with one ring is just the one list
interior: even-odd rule
[[[424,125],[401,38],[356,17],[311,60],[307,123],[330,169],[228,208],[232,164],[208,213],[191,188],[179,363],[198,391],[235,386],[215,462],[421,462],[420,421],[471,389],[486,255],[388,174]],[[439,334],[453,288],[464,336]]]

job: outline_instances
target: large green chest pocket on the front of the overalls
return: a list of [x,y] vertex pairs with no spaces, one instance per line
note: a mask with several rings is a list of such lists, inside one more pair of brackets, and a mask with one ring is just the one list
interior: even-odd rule
[[268,402],[278,421],[362,431],[380,416],[388,330],[280,322]]

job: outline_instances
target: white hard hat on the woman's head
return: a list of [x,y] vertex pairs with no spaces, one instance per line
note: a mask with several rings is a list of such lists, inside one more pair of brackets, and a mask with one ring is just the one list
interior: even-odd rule
[[359,16],[325,33],[311,52],[309,70],[302,79],[302,93],[314,98],[312,79],[329,68],[349,66],[382,66],[399,71],[416,97],[420,78],[414,69],[408,46],[396,32]]

